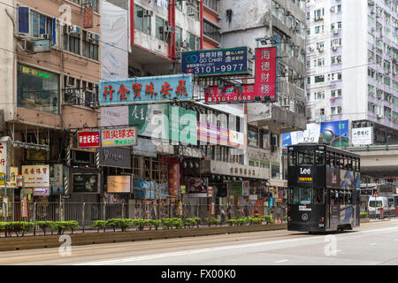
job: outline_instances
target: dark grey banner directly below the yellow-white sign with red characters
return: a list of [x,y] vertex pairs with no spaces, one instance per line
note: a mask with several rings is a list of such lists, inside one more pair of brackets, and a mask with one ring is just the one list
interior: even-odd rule
[[100,166],[131,168],[131,149],[101,148],[98,150]]

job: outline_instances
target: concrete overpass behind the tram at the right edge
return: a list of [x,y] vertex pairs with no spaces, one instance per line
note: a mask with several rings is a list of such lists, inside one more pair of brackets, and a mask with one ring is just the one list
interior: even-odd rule
[[361,156],[361,175],[373,178],[398,177],[398,144],[347,147]]

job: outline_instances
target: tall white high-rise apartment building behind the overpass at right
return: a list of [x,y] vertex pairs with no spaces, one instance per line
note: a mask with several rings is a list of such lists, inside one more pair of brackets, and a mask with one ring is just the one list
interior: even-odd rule
[[307,118],[397,142],[397,1],[307,1]]

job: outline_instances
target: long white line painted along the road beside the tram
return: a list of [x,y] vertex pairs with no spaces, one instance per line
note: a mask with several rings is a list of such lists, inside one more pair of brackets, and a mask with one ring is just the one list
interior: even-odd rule
[[[367,230],[367,231],[359,231],[357,233],[341,234],[341,236],[350,237],[350,236],[356,236],[361,233],[382,232],[382,231],[391,231],[391,230],[398,230],[398,226],[390,227],[390,228],[379,228],[379,229]],[[245,249],[245,248],[253,248],[253,247],[258,247],[258,246],[266,246],[266,245],[275,245],[275,244],[279,244],[279,243],[288,243],[288,242],[295,242],[295,241],[312,241],[312,240],[318,240],[318,239],[324,239],[324,238],[325,238],[325,236],[317,236],[317,237],[291,239],[291,240],[264,241],[264,242],[257,242],[257,243],[243,244],[243,245],[231,245],[231,246],[218,247],[218,248],[190,249],[190,250],[185,250],[185,251],[180,251],[180,252],[155,254],[155,255],[149,255],[149,256],[133,256],[133,257],[96,261],[96,262],[88,262],[88,263],[73,264],[73,265],[121,264],[121,263],[144,261],[144,260],[157,259],[157,258],[163,258],[163,257],[169,257],[169,256],[188,256],[188,255],[195,255],[195,254],[199,254],[199,253],[216,252],[216,251],[226,250],[226,249]],[[339,250],[337,250],[337,251],[339,251]]]

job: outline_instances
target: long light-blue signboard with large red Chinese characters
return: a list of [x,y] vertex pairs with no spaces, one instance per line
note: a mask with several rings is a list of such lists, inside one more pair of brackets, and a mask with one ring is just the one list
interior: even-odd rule
[[100,106],[194,99],[192,74],[100,80],[99,88]]

